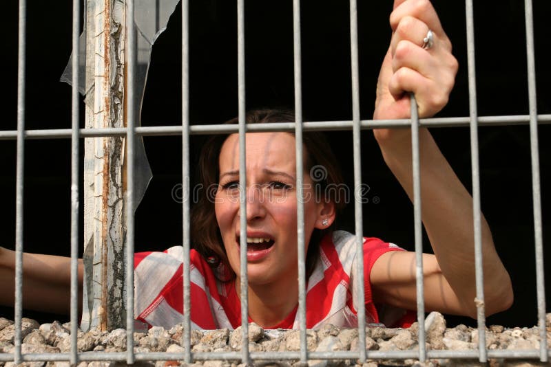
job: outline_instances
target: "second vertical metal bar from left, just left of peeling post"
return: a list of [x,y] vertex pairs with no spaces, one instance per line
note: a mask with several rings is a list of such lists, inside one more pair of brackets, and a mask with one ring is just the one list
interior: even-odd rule
[[79,32],[81,0],[73,0],[71,89],[71,359],[79,362],[76,337],[79,326]]

